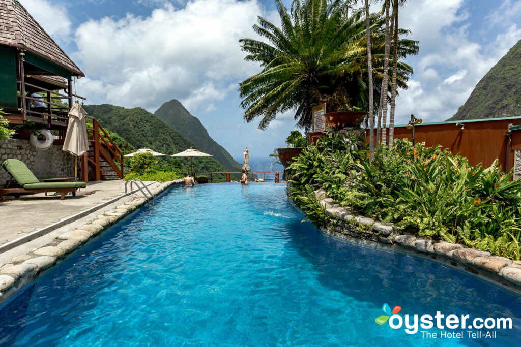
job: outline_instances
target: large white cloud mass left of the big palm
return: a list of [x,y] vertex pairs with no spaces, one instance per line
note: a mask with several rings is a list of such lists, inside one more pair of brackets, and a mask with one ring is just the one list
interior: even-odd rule
[[149,110],[171,98],[212,110],[230,83],[258,69],[244,61],[238,41],[255,35],[259,14],[257,0],[194,0],[182,9],[165,4],[149,17],[89,20],[76,31],[75,58],[89,77],[79,80],[80,93]]

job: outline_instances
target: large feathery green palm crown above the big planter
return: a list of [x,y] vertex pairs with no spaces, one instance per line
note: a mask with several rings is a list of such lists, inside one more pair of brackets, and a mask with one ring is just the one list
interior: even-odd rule
[[[259,62],[262,67],[239,84],[246,121],[261,117],[259,128],[264,129],[277,113],[295,110],[297,125],[308,130],[315,105],[327,102],[330,111],[347,111],[363,109],[372,102],[367,96],[364,10],[350,10],[350,2],[345,0],[294,0],[290,14],[281,0],[276,3],[281,28],[262,17],[253,27],[271,44],[240,40],[248,54],[245,60]],[[381,68],[384,19],[379,15],[369,19],[375,33],[370,40],[377,53],[374,63]],[[417,52],[416,41],[400,41],[399,45],[400,57]],[[411,72],[411,67],[398,64],[400,87],[406,88]]]

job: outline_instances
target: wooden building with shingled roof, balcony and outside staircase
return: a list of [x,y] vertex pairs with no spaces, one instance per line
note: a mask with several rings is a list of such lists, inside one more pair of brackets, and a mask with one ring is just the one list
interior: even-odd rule
[[[0,0],[0,109],[11,124],[27,121],[52,130],[63,145],[73,98],[73,78],[84,76],[78,66],[17,0]],[[123,177],[123,157],[103,128],[92,119],[89,155],[82,158],[93,178]],[[102,135],[100,135],[100,133]]]

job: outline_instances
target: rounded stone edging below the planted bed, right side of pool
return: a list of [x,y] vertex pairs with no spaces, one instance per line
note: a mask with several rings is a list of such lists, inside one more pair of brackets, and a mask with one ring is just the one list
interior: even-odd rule
[[329,217],[326,226],[320,227],[321,232],[328,236],[364,247],[420,256],[521,295],[521,261],[494,256],[490,252],[457,243],[438,242],[402,233],[399,226],[356,215],[351,208],[341,207],[322,189],[315,190],[315,198]]

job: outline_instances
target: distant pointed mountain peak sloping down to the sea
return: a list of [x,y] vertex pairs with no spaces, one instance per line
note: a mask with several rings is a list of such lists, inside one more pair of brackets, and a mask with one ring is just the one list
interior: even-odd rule
[[216,143],[208,135],[201,121],[191,115],[178,100],[165,102],[154,114],[184,138],[193,142],[197,149],[213,155],[227,171],[241,171],[242,164],[235,161],[226,149]]

